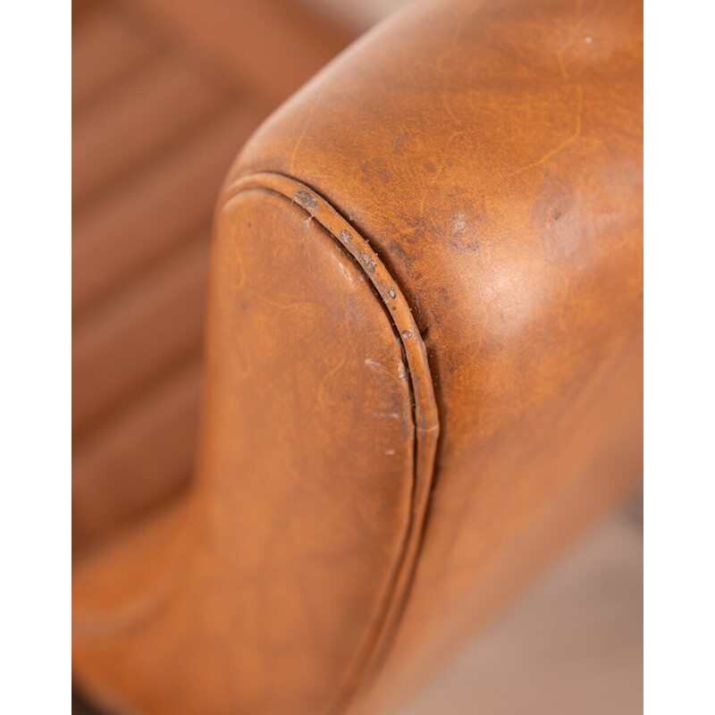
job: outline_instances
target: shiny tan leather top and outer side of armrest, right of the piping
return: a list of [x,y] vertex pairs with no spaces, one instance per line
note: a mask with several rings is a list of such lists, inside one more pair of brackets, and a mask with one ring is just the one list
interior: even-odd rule
[[442,436],[378,694],[428,672],[446,614],[471,624],[500,601],[495,565],[523,572],[520,551],[539,559],[640,474],[641,34],[637,3],[410,7],[234,166],[323,193],[425,333]]

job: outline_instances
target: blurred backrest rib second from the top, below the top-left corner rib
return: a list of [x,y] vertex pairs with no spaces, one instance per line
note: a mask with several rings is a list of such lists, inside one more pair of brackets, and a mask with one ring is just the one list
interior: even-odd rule
[[170,146],[206,120],[225,88],[174,56],[157,58],[72,122],[72,201]]

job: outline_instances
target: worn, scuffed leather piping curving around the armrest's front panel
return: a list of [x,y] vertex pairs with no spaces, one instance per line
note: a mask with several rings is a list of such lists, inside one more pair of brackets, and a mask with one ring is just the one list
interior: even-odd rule
[[400,286],[360,232],[315,189],[278,172],[257,172],[231,181],[222,192],[222,198],[218,203],[219,210],[231,198],[248,189],[265,189],[298,204],[357,261],[374,290],[383,299],[387,313],[391,316],[391,321],[400,336],[408,362],[408,377],[414,397],[416,442],[410,517],[400,555],[388,580],[387,593],[381,597],[382,603],[377,610],[376,622],[366,629],[366,635],[357,647],[356,656],[333,703],[332,711],[339,712],[347,708],[358,687],[382,663],[400,623],[408,597],[425,527],[439,435],[432,374],[427,361],[425,343]]

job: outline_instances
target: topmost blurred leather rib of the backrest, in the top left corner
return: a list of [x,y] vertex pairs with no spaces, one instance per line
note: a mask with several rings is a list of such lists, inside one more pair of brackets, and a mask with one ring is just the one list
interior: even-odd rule
[[78,15],[72,23],[72,113],[156,51],[109,4]]

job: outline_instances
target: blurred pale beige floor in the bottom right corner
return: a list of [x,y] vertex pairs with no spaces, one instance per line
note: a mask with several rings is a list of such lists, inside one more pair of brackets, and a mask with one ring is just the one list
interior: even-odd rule
[[643,529],[605,519],[391,715],[644,712]]

